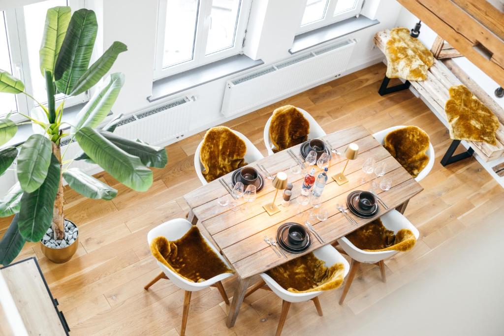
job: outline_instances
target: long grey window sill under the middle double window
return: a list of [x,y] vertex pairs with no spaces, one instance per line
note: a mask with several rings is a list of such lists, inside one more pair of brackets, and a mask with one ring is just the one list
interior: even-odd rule
[[153,102],[163,99],[262,64],[264,64],[262,59],[254,60],[245,55],[234,55],[198,66],[198,68],[154,81],[152,84],[152,95],[147,97],[147,100]]

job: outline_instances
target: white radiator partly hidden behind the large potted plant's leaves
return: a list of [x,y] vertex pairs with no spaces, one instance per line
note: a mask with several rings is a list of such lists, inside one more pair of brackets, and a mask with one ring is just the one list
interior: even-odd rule
[[[175,139],[180,139],[189,131],[190,106],[193,103],[192,99],[184,96],[124,116],[119,121],[114,133],[131,140],[140,139],[150,145],[166,146]],[[70,137],[61,139],[60,145],[61,153],[65,153],[65,160],[75,158],[81,152],[79,144]],[[80,160],[74,161],[71,167],[94,171],[97,166]]]

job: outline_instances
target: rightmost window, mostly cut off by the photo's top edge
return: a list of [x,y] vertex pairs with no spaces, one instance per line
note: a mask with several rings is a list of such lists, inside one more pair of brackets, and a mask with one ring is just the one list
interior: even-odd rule
[[298,33],[358,16],[363,0],[308,0]]

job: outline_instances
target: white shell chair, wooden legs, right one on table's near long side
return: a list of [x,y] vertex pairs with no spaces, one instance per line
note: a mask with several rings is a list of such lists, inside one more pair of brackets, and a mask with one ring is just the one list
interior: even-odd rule
[[[420,233],[417,228],[411,224],[410,221],[406,217],[404,217],[399,211],[391,210],[382,217],[383,225],[388,229],[397,233],[401,229],[409,229],[413,232],[415,238],[418,239]],[[350,289],[350,285],[352,284],[353,278],[355,277],[355,273],[359,268],[359,264],[363,263],[373,263],[380,266],[380,273],[382,274],[382,281],[387,282],[387,277],[385,275],[385,263],[384,260],[388,259],[394,255],[396,255],[399,251],[390,250],[390,251],[379,251],[379,252],[369,252],[363,251],[357,248],[354,244],[350,242],[346,237],[342,237],[338,239],[338,243],[340,247],[345,251],[348,256],[352,258],[352,262],[350,264],[350,274],[345,283],[345,287],[343,288],[343,293],[341,294],[340,304],[343,304],[345,297]]]

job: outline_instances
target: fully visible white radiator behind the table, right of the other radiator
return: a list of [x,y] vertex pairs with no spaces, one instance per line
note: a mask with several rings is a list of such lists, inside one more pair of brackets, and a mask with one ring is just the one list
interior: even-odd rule
[[355,43],[345,40],[227,81],[222,114],[253,109],[339,76],[347,68]]

